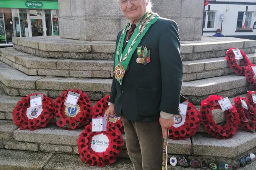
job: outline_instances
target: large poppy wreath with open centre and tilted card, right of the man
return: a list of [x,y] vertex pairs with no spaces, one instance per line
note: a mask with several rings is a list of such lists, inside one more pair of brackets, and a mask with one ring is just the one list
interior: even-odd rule
[[221,99],[223,99],[223,97],[217,95],[212,95],[209,96],[209,98],[204,99],[201,102],[199,118],[208,134],[217,139],[228,139],[232,138],[232,136],[237,133],[240,120],[235,106],[232,105],[232,108],[224,112],[226,116],[226,123],[223,126],[215,123],[212,119],[212,110],[221,108],[218,104],[218,100]]

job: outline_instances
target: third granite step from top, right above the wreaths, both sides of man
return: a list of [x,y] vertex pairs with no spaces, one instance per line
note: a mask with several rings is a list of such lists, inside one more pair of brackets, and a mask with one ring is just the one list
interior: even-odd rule
[[[62,78],[46,76],[27,76],[0,62],[0,88],[9,96],[27,96],[35,92],[56,98],[67,89],[80,89],[91,100],[99,100],[110,93],[112,79]],[[216,94],[233,97],[251,90],[245,76],[230,74],[226,76],[184,81],[181,94],[195,105],[209,95]]]

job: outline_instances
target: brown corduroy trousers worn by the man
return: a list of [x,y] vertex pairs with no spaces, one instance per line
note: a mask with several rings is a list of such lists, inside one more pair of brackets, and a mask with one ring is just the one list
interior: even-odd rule
[[134,122],[121,115],[134,170],[161,170],[163,137],[159,121]]

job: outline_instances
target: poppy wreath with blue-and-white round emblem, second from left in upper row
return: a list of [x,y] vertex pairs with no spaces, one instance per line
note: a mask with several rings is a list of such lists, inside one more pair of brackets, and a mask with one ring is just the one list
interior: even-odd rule
[[[66,107],[64,105],[69,91],[80,94],[75,108]],[[81,90],[68,89],[67,91],[63,91],[62,94],[55,99],[54,107],[54,119],[56,120],[56,125],[61,128],[72,130],[88,125],[91,121],[91,110],[93,108],[91,100],[87,94]]]

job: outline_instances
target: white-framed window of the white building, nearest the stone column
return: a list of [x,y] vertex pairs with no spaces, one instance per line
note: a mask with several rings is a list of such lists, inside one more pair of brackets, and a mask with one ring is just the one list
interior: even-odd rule
[[205,11],[204,12],[204,31],[211,31],[215,30],[215,23],[216,23],[216,11]]

